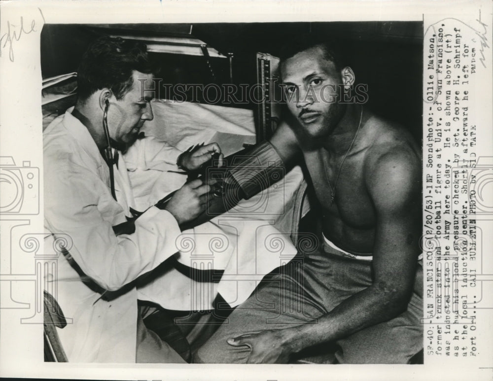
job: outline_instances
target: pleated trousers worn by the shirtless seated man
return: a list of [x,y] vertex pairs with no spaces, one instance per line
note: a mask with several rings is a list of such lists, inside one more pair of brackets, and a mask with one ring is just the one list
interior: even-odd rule
[[[371,261],[349,258],[323,245],[265,278],[246,302],[231,313],[209,341],[194,355],[201,363],[245,363],[249,348],[226,340],[247,332],[301,325],[330,312],[342,301],[372,284]],[[420,283],[421,282],[421,283]],[[310,362],[350,364],[406,364],[423,348],[423,267],[418,265],[415,292],[406,312],[365,328],[329,345],[317,346]],[[418,291],[418,293],[417,293]],[[420,296],[421,295],[421,296]],[[296,359],[295,359],[296,360]],[[303,357],[298,358],[303,362]]]

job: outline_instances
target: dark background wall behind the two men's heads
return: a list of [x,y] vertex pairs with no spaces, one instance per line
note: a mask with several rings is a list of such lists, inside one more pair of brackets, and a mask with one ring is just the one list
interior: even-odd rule
[[[97,25],[45,25],[41,33],[43,78],[76,71],[87,45],[105,28]],[[189,32],[188,25],[145,24],[110,26],[148,35]],[[358,83],[368,84],[368,106],[405,125],[422,138],[423,24],[421,22],[332,23],[213,23],[193,24],[192,35],[219,52],[233,53],[233,83],[256,82],[255,53],[279,55],[291,35],[312,32],[339,39],[350,53]],[[211,58],[211,77],[204,57],[153,54],[164,82],[228,83],[229,62]],[[242,105],[254,108],[254,104]]]

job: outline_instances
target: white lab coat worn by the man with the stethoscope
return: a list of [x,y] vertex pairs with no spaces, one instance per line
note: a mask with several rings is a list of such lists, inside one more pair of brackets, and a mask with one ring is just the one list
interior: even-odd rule
[[125,163],[120,156],[114,166],[116,202],[108,166],[70,111],[43,133],[45,228],[71,239],[70,255],[60,255],[58,270],[46,277],[57,281],[56,299],[73,319],[58,332],[71,362],[135,362],[132,281],[176,252],[180,230],[168,211],[152,207],[137,219],[134,234],[114,235],[112,226],[125,222],[134,204]]

